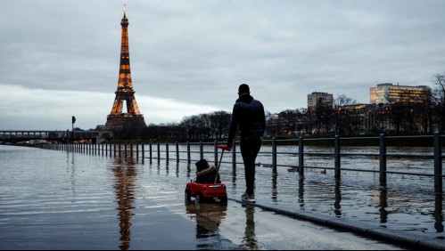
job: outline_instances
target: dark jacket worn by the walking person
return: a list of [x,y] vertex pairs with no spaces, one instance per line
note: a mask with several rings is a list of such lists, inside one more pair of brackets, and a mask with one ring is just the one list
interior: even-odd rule
[[266,130],[266,116],[264,115],[263,104],[253,99],[250,94],[241,96],[235,102],[227,146],[232,146],[238,126],[242,139],[260,138]]

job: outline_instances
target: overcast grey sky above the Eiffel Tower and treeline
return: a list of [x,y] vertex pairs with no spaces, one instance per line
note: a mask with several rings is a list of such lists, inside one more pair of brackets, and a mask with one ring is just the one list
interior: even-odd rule
[[313,92],[369,102],[380,83],[445,72],[445,1],[0,1],[0,130],[104,125],[126,4],[133,87],[145,123],[232,111],[246,83],[265,109]]

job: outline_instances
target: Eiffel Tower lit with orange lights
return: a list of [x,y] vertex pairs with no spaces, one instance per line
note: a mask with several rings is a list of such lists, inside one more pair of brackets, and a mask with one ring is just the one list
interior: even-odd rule
[[[115,138],[140,138],[147,127],[144,116],[139,112],[130,74],[130,58],[128,52],[128,18],[124,5],[124,17],[120,20],[122,36],[120,44],[119,82],[116,98],[111,113],[107,116],[105,129],[112,131]],[[127,108],[127,113],[122,109]]]

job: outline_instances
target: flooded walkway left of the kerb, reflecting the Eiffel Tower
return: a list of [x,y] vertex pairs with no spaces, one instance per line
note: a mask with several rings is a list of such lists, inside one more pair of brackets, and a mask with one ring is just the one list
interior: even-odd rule
[[[297,214],[261,193],[257,205],[245,206],[238,200],[241,177],[239,184],[227,181],[227,204],[185,204],[185,183],[194,177],[186,163],[141,164],[4,146],[0,163],[4,250],[414,249],[401,231],[385,233],[400,234],[394,242],[373,234],[375,226]],[[312,221],[316,216],[323,223]],[[368,235],[358,231],[368,227]],[[443,249],[441,240],[421,240]]]

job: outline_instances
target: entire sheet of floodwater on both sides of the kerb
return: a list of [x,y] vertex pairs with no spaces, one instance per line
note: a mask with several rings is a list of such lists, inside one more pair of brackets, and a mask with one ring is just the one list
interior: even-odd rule
[[[0,167],[0,249],[400,249],[232,200],[185,205],[194,178],[186,162],[0,145]],[[243,167],[223,163],[220,174],[238,199]],[[258,166],[256,198],[443,239],[443,200],[428,179],[389,178],[382,190],[373,174],[345,173],[338,182],[329,171],[308,169],[300,179]]]

